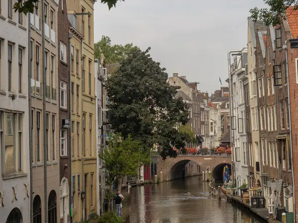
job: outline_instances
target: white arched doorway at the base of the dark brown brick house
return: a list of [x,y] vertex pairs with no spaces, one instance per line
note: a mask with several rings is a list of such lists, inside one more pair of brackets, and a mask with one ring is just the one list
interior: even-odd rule
[[60,218],[63,218],[63,223],[67,223],[69,213],[69,184],[68,179],[63,177],[60,183]]

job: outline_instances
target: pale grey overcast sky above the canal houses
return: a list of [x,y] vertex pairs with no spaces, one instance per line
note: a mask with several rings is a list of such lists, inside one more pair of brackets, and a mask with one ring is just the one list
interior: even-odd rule
[[263,0],[125,0],[108,10],[94,5],[94,41],[109,36],[112,44],[133,43],[172,73],[213,93],[223,86],[227,52],[247,46],[249,9]]

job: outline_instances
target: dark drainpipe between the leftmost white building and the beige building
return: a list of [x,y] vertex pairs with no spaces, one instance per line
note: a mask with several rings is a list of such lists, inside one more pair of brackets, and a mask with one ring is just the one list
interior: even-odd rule
[[[31,22],[30,13],[28,13],[28,106],[29,106],[29,162],[30,162],[30,205],[33,205],[33,152],[32,152],[32,98],[31,98]],[[33,208],[30,208],[30,222],[33,222]]]

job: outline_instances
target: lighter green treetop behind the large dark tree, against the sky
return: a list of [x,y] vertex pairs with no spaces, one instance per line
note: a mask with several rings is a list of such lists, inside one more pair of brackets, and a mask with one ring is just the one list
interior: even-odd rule
[[100,55],[105,56],[106,63],[119,63],[122,59],[128,56],[132,49],[137,49],[132,43],[126,45],[112,45],[111,39],[108,36],[102,36],[101,40],[94,44],[94,57],[100,58]]

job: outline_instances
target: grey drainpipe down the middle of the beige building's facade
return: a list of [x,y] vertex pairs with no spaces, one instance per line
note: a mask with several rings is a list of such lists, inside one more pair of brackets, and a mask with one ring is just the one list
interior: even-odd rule
[[42,26],[42,102],[43,102],[43,137],[44,137],[44,201],[45,201],[45,223],[48,223],[48,182],[47,182],[47,158],[48,158],[48,140],[47,140],[47,124],[46,124],[46,48],[45,48],[45,0],[41,0],[41,26]]

